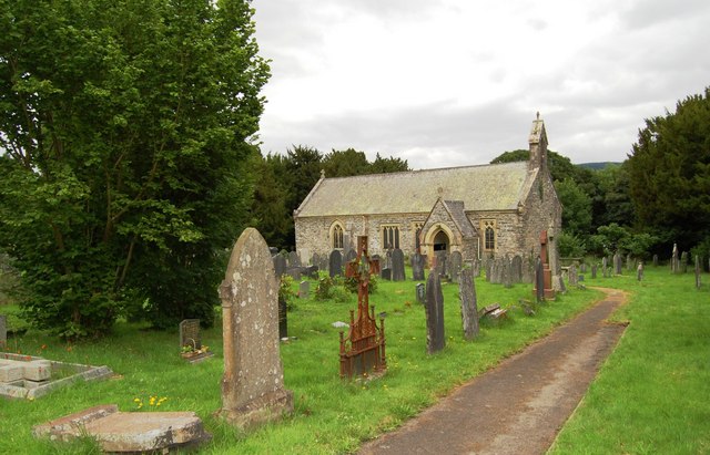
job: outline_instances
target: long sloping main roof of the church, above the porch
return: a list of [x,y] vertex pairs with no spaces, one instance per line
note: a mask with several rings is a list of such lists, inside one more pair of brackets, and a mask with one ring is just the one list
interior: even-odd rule
[[516,209],[528,186],[528,162],[395,174],[322,178],[296,217],[428,213],[437,198],[468,210]]

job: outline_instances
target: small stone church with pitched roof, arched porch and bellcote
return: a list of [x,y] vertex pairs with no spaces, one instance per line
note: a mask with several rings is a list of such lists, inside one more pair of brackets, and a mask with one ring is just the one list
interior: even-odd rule
[[323,173],[294,210],[296,251],[355,247],[368,236],[371,255],[399,248],[460,251],[464,260],[534,257],[540,231],[561,228],[561,205],[547,167],[547,134],[538,117],[527,162],[327,178]]

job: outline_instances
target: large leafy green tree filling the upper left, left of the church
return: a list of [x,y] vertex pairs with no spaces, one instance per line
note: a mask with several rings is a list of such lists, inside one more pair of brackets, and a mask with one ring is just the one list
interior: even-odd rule
[[67,338],[211,321],[267,64],[246,0],[0,0],[0,248]]

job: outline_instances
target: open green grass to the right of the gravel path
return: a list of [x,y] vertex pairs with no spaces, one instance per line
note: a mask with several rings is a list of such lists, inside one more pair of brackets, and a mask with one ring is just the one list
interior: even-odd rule
[[667,267],[597,280],[630,291],[629,325],[552,454],[710,453],[710,286]]

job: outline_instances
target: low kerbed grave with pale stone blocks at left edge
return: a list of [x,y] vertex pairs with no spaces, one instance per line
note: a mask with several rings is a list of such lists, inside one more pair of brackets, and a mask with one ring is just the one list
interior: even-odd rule
[[93,381],[112,374],[108,366],[0,352],[0,396],[9,399],[33,400],[79,380]]

